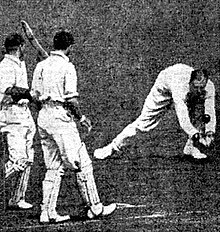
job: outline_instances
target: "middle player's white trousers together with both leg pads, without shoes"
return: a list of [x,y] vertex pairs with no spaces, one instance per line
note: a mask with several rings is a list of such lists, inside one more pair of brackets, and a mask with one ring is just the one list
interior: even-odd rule
[[73,169],[75,162],[81,168],[76,173],[80,194],[83,201],[96,212],[100,199],[93,177],[92,161],[85,144],[81,142],[76,123],[62,106],[48,104],[39,113],[38,126],[46,165],[42,212],[47,212],[49,217],[56,214],[64,165],[70,169],[72,165]]

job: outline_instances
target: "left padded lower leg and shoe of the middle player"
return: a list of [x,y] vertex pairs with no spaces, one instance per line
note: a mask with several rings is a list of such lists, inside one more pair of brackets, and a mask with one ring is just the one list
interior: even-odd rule
[[64,222],[70,219],[69,215],[60,216],[56,212],[57,198],[60,191],[62,168],[47,170],[43,181],[43,202],[41,205],[41,223]]

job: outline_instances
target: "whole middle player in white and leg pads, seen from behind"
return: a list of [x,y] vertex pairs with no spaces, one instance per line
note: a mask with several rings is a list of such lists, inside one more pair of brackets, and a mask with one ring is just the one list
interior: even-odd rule
[[70,219],[56,211],[61,178],[67,168],[76,175],[88,218],[106,216],[116,209],[116,204],[103,206],[100,202],[92,162],[76,126],[76,119],[88,129],[91,122],[79,108],[76,70],[68,58],[73,43],[71,33],[57,32],[53,40],[55,51],[37,64],[33,76],[33,96],[43,104],[37,120],[46,165],[41,223]]

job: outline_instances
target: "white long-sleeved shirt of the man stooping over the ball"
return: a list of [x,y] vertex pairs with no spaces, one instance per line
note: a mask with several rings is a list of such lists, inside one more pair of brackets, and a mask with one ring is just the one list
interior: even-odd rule
[[[166,68],[159,74],[147,97],[148,108],[152,111],[159,111],[173,102],[180,126],[189,136],[199,132],[190,122],[186,105],[192,71],[193,68],[185,64],[176,64]],[[215,132],[215,87],[211,80],[208,80],[205,90],[207,92],[205,113],[211,117],[210,122],[206,124],[206,131]]]

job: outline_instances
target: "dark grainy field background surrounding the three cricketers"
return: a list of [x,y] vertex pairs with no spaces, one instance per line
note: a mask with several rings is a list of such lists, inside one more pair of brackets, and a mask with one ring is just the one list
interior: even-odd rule
[[[20,20],[29,23],[47,51],[52,49],[57,30],[68,29],[73,33],[75,45],[70,58],[78,74],[83,112],[93,122],[91,134],[86,137],[82,132],[82,138],[92,157],[95,148],[110,142],[140,114],[159,72],[175,63],[209,70],[216,86],[219,121],[219,6],[217,0],[1,1],[0,43],[3,44],[9,33],[21,32]],[[37,53],[28,42],[26,51],[31,85]],[[218,214],[219,206],[218,131],[219,123],[210,162],[180,160],[186,135],[171,110],[155,130],[136,138],[121,154],[106,161],[94,161],[95,177],[104,202],[146,204],[144,210],[148,214],[177,213],[175,220],[181,222],[169,217],[150,222],[127,220],[129,215],[141,216],[146,212],[119,209],[112,221],[97,222],[99,229],[94,226],[94,231],[215,231],[216,227],[210,224],[216,223],[213,215]],[[34,227],[38,223],[44,163],[37,135],[35,149],[35,166],[27,195],[36,210],[30,213],[29,220],[23,214],[19,217],[16,213],[6,213],[5,221],[11,215],[19,217],[17,222],[11,221],[11,226],[30,223]],[[72,190],[72,179],[74,181],[70,174],[64,178],[59,207],[77,214],[80,200],[76,190]],[[6,188],[7,191],[10,192]],[[191,219],[189,212],[193,210],[206,212],[205,218],[207,214],[212,216],[208,222],[200,214]],[[111,226],[103,227],[103,223]],[[198,223],[203,227],[197,227]],[[93,231],[87,226],[81,225],[78,230]]]

